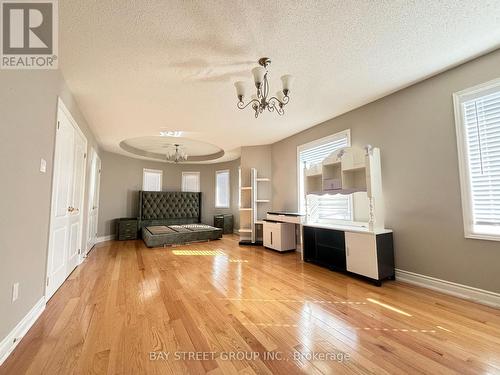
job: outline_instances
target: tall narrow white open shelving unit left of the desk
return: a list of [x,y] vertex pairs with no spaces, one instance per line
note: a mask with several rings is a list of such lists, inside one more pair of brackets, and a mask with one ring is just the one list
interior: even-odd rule
[[271,203],[266,197],[259,197],[259,184],[271,182],[270,178],[258,177],[257,169],[250,169],[250,186],[240,189],[240,244],[258,244],[257,226],[263,224],[265,215],[259,217],[259,205]]

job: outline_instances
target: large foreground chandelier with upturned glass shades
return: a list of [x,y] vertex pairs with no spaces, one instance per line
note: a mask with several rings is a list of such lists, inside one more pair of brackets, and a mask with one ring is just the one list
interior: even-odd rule
[[267,109],[269,112],[277,112],[280,116],[285,113],[283,107],[290,100],[288,94],[290,93],[290,86],[293,83],[294,77],[290,74],[281,77],[283,83],[283,90],[278,91],[276,96],[269,97],[269,81],[267,79],[267,67],[271,64],[271,59],[268,57],[262,57],[259,59],[259,65],[252,69],[253,79],[255,82],[255,87],[257,87],[257,93],[251,96],[251,100],[248,103],[243,102],[243,97],[245,96],[245,84],[242,81],[238,81],[234,84],[236,87],[236,95],[238,96],[238,108],[245,109],[249,105],[255,111],[255,118]]

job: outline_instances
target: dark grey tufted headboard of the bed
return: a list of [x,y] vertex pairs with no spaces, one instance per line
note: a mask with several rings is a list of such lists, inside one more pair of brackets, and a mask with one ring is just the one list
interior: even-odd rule
[[201,222],[201,193],[139,192],[139,227]]

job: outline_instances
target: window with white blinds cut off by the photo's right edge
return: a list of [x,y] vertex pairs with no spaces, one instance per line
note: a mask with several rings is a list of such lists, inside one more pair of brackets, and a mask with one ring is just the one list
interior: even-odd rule
[[500,79],[453,100],[465,237],[500,241]]

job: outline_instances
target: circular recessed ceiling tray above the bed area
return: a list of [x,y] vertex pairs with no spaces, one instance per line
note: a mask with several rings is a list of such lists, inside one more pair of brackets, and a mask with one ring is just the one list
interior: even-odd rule
[[179,144],[179,149],[187,154],[186,163],[215,160],[224,156],[224,151],[215,145],[184,137],[131,138],[120,142],[120,147],[138,156],[166,161],[166,155],[175,151],[175,144]]

